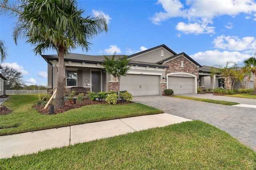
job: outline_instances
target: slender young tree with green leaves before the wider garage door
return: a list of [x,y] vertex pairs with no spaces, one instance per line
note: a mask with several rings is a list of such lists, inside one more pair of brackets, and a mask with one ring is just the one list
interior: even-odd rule
[[108,74],[113,75],[113,77],[115,78],[115,81],[116,79],[118,81],[118,101],[119,101],[120,100],[120,79],[121,79],[121,76],[126,76],[126,73],[131,68],[131,66],[128,66],[131,60],[128,59],[127,58],[128,56],[126,55],[123,58],[120,58],[118,56],[118,59],[116,59],[116,52],[112,55],[111,59],[106,57],[106,55],[104,57],[105,57],[105,61],[102,63],[104,67],[104,71],[106,71],[106,73]]

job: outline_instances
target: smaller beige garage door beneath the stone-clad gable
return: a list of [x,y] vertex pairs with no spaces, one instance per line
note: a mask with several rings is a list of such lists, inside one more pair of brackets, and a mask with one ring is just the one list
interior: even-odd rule
[[195,93],[194,77],[168,77],[168,89],[172,89],[174,94]]

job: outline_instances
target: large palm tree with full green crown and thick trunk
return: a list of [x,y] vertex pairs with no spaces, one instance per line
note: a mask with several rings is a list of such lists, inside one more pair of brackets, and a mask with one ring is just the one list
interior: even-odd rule
[[54,110],[64,106],[64,54],[81,47],[88,51],[88,40],[101,32],[108,31],[106,19],[102,16],[83,18],[83,10],[76,6],[76,0],[22,0],[22,12],[14,28],[15,43],[25,38],[35,45],[35,54],[55,49],[58,53],[58,77]]

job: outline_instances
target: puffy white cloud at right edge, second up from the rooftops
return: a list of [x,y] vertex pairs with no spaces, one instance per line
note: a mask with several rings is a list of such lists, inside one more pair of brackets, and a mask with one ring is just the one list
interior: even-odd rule
[[237,36],[217,36],[214,38],[214,47],[230,51],[249,51],[252,53],[256,49],[256,39],[254,37],[244,37],[240,39]]

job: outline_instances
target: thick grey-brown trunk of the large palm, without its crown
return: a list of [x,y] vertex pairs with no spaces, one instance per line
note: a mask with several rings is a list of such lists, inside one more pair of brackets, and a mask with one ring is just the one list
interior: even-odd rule
[[54,110],[64,107],[63,87],[64,87],[64,48],[59,47],[59,61],[58,61],[58,77],[56,97],[54,101]]

